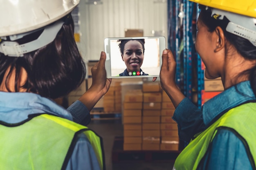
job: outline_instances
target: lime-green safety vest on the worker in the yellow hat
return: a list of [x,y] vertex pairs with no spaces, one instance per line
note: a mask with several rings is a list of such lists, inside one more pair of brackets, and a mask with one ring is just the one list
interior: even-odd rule
[[[180,153],[174,163],[174,170],[196,170],[202,158],[209,148],[218,128],[225,127],[236,131],[246,143],[245,148],[249,150],[249,159],[256,162],[256,103],[247,103],[232,108],[222,115],[209,128],[193,139]],[[252,116],[252,114],[254,114]],[[250,130],[248,130],[250,129]],[[255,167],[253,167],[255,169]]]

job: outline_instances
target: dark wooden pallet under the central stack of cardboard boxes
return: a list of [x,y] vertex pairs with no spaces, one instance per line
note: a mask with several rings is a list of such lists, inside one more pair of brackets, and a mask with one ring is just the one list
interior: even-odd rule
[[180,151],[171,150],[124,150],[124,138],[115,137],[112,148],[112,163],[129,161],[175,161]]

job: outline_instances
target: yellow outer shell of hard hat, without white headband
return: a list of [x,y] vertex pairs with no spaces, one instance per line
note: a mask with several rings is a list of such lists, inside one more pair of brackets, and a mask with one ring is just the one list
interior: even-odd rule
[[256,0],[189,0],[208,7],[256,18]]

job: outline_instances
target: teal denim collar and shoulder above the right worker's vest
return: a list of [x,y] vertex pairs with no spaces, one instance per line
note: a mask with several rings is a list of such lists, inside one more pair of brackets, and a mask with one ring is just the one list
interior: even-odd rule
[[211,98],[202,106],[203,121],[209,126],[231,108],[254,101],[256,98],[249,81],[241,82]]

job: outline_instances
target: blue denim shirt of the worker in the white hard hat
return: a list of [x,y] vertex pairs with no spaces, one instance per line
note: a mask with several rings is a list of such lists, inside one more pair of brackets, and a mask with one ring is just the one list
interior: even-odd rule
[[[0,121],[18,123],[35,113],[51,113],[83,125],[90,123],[90,112],[80,101],[74,102],[66,110],[54,101],[34,93],[0,92]],[[84,169],[100,170],[100,167],[92,145],[82,133],[78,136],[66,170]]]

